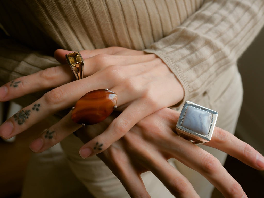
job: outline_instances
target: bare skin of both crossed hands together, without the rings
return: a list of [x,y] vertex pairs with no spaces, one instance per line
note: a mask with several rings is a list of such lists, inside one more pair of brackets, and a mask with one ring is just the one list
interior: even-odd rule
[[[68,53],[57,50],[55,57],[64,64],[65,54]],[[140,178],[140,173],[147,170],[152,171],[173,195],[199,197],[190,182],[168,164],[169,158],[176,158],[200,172],[225,197],[246,197],[241,186],[215,157],[175,134],[179,115],[164,107],[180,102],[184,92],[181,84],[158,57],[120,47],[81,53],[84,64],[89,65],[85,68],[84,79],[73,81],[69,66],[61,65],[15,79],[0,88],[0,100],[8,101],[55,87],[3,123],[0,126],[1,137],[13,137],[55,112],[72,107],[89,91],[109,88],[117,93],[116,110],[119,111],[115,112],[117,114],[110,122],[82,128],[70,119],[70,111],[33,140],[31,150],[43,152],[81,128],[86,133],[82,133],[85,136],[79,136],[86,144],[80,149],[80,155],[85,158],[98,154],[131,197],[149,197]],[[13,86],[15,82],[20,83]],[[171,97],[164,97],[168,94]],[[17,118],[22,121],[18,122]],[[237,157],[253,168],[264,169],[260,153],[220,128],[215,129],[212,140],[206,144]]]

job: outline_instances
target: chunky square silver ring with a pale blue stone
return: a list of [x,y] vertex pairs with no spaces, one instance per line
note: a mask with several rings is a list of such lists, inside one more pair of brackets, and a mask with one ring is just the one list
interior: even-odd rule
[[209,142],[214,132],[218,113],[186,101],[176,125],[177,134],[194,144]]

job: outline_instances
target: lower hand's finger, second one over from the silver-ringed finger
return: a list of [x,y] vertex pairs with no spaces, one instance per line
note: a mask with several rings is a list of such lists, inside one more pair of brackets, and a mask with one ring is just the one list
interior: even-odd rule
[[[158,177],[175,197],[199,197],[191,183],[161,156],[149,155],[148,169]],[[147,158],[146,158],[147,159]]]

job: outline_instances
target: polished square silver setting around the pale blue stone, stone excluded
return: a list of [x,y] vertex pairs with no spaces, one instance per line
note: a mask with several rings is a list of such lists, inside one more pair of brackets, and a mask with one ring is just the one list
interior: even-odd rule
[[[183,121],[183,118],[184,118],[184,115],[185,115],[185,112],[186,112],[186,109],[188,106],[192,106],[192,107],[204,110],[204,111],[212,114],[212,120],[211,120],[211,124],[209,127],[208,135],[203,135],[203,134],[197,133],[195,131],[192,131],[192,130],[182,126],[182,121]],[[216,111],[213,111],[211,109],[202,107],[198,104],[186,101],[185,104],[183,105],[183,108],[182,108],[182,111],[180,114],[180,118],[178,119],[178,122],[176,125],[176,132],[179,136],[181,136],[181,137],[184,136],[185,139],[188,139],[189,141],[193,142],[194,144],[202,144],[202,143],[209,142],[211,140],[211,137],[212,137],[213,132],[214,132],[214,127],[215,127],[217,116],[218,116],[218,113]],[[186,138],[186,137],[189,137],[189,138]]]

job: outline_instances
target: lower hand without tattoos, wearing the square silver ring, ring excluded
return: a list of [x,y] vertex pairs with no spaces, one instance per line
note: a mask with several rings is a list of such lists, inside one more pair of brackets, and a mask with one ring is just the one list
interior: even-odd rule
[[[179,113],[163,108],[138,122],[128,133],[97,156],[111,169],[131,197],[150,197],[140,178],[153,172],[175,197],[199,197],[190,182],[167,160],[175,158],[208,179],[225,197],[246,197],[242,187],[210,153],[175,134]],[[113,118],[114,119],[114,118]],[[111,122],[81,128],[84,143],[97,136]],[[264,170],[264,157],[232,134],[215,127],[210,142],[204,144],[238,158],[247,165]]]

